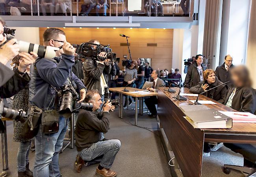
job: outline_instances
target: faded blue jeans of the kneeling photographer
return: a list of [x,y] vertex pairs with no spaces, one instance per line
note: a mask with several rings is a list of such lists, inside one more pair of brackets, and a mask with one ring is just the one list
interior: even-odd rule
[[84,161],[91,161],[103,155],[102,160],[100,161],[100,166],[109,169],[111,168],[120,147],[120,140],[99,141],[92,144],[91,147],[78,152],[78,155],[80,155]]

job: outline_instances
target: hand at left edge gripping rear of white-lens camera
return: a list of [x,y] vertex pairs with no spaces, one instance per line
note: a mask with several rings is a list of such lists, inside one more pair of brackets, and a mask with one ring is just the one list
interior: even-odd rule
[[15,42],[17,39],[11,39],[0,48],[0,62],[4,65],[19,54],[20,48],[18,44],[14,44]]

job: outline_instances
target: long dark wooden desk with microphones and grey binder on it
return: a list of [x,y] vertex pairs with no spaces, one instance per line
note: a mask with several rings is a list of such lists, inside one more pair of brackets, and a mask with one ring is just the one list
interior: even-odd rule
[[[183,116],[179,105],[192,104],[190,101],[176,101],[178,88],[172,88],[176,93],[168,93],[158,89],[158,117],[168,141],[173,149],[175,158],[184,177],[200,177],[202,169],[202,152],[204,142],[226,142],[256,144],[256,123],[233,123],[231,129],[195,129]],[[189,93],[184,88],[181,92]],[[195,100],[195,96],[184,96],[188,100]],[[207,107],[217,111],[234,111],[206,96],[198,100],[211,100],[217,104]]]

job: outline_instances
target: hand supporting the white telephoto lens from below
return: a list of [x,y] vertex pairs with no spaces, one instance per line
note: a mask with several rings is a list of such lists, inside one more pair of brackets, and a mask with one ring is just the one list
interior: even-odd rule
[[26,69],[35,62],[35,59],[38,57],[38,55],[34,52],[26,53],[21,52],[19,53],[20,59],[22,60],[21,63],[18,66],[19,72],[25,72]]

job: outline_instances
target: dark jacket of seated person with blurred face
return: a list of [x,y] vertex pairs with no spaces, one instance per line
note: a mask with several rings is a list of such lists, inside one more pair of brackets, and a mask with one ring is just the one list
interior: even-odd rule
[[[228,89],[228,94],[224,103],[225,105],[234,89],[235,87]],[[254,114],[256,111],[256,90],[251,87],[237,88],[236,94],[232,100],[231,108],[239,112],[250,112]]]

